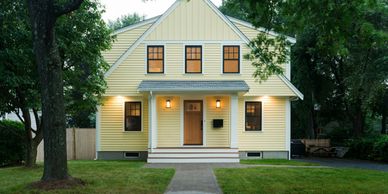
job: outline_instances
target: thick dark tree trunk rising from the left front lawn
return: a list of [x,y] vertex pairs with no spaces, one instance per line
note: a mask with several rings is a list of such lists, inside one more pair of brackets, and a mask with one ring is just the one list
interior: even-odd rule
[[44,137],[42,180],[63,180],[67,173],[66,122],[62,64],[55,44],[55,14],[50,0],[29,4],[34,52],[41,86]]

